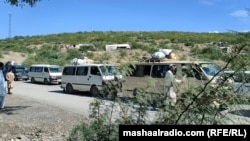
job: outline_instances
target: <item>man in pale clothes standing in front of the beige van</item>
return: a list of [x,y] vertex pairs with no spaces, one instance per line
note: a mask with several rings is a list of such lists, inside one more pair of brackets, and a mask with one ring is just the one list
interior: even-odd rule
[[176,67],[173,64],[169,65],[169,70],[166,73],[166,87],[168,96],[170,98],[170,106],[174,106],[177,101],[176,85],[181,84],[183,81],[175,78]]

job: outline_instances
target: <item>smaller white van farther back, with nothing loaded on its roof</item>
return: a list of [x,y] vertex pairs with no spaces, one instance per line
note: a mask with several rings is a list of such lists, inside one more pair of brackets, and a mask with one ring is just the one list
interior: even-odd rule
[[31,83],[60,84],[62,68],[58,65],[35,64],[30,66],[28,76]]

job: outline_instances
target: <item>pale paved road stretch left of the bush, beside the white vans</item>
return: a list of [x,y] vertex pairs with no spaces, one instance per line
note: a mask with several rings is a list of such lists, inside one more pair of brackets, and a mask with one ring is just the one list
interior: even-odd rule
[[77,114],[89,115],[89,103],[94,100],[88,94],[66,94],[60,85],[32,84],[30,81],[15,81],[13,93],[62,108]]

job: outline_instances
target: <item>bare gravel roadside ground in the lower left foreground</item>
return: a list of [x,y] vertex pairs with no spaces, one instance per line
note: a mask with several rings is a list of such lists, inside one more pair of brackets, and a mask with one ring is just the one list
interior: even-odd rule
[[82,115],[7,95],[0,110],[0,141],[66,141],[82,120]]

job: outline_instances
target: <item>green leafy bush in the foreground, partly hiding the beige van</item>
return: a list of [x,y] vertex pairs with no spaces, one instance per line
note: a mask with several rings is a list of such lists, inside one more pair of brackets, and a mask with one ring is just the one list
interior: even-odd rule
[[[249,46],[248,41],[245,43],[237,45],[237,50],[228,58],[222,71],[229,65],[235,65],[236,60],[245,59],[238,55],[244,47]],[[249,65],[244,60],[238,64],[237,70]],[[231,77],[225,77],[216,86],[207,82],[200,86],[190,84],[185,89],[179,87],[180,95],[174,107],[169,105],[167,93],[149,94],[136,88],[132,93],[122,90],[122,95],[117,95],[120,87],[110,84],[105,93],[106,98],[98,98],[90,104],[89,121],[75,127],[69,140],[117,141],[119,125],[225,124],[230,119],[221,110],[237,104],[249,104],[245,96],[232,91],[228,83]],[[153,83],[151,86],[155,85]],[[111,89],[114,90],[112,93]]]

